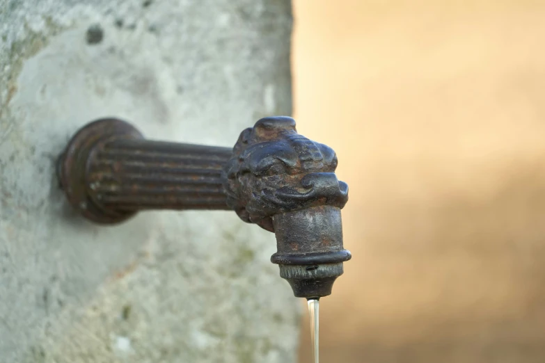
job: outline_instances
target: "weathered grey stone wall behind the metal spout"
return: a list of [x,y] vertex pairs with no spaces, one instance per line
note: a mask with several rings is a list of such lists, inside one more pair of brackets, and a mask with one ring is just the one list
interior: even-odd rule
[[[235,213],[97,227],[54,162],[113,115],[230,146],[289,114],[290,1],[0,0],[0,362],[293,362],[274,235]],[[91,31],[89,31],[91,29]]]

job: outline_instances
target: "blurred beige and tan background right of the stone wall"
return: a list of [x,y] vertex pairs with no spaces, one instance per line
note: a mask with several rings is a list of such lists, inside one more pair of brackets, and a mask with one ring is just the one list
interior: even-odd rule
[[545,362],[545,1],[294,14],[298,129],[351,198],[321,362]]

